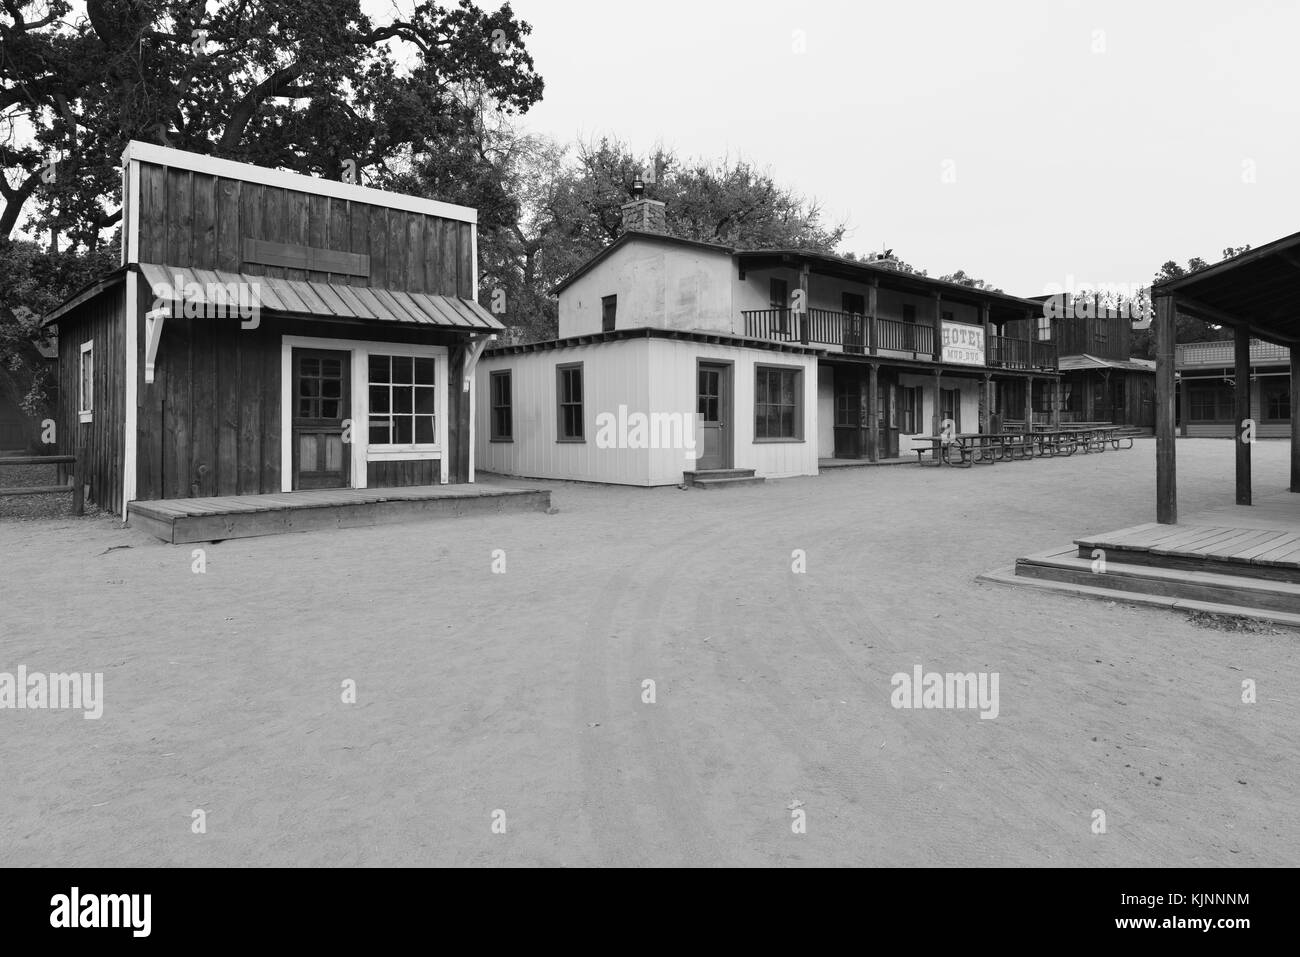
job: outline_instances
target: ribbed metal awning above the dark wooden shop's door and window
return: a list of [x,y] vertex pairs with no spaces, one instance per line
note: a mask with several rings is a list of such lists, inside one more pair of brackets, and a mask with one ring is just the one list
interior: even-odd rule
[[467,332],[497,332],[506,328],[473,299],[450,295],[153,263],[140,263],[139,269],[155,298],[190,304],[200,311],[229,308],[251,300],[263,309],[290,316],[406,322]]

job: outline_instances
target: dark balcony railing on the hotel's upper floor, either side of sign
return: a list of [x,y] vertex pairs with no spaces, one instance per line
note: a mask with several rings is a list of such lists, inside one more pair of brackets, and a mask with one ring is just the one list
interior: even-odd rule
[[[745,335],[751,339],[838,346],[852,355],[910,354],[913,359],[933,359],[935,326],[900,319],[870,316],[833,309],[745,309]],[[1004,369],[1056,369],[1056,343],[989,335],[985,361]]]

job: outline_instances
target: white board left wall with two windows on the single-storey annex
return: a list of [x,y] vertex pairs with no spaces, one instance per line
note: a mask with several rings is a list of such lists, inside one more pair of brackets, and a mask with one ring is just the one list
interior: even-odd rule
[[[563,478],[649,485],[650,462],[644,449],[601,449],[597,416],[619,406],[649,411],[647,339],[549,348],[516,355],[485,355],[474,373],[477,400],[474,469],[528,478]],[[560,442],[556,367],[582,363],[582,442]],[[510,442],[493,442],[491,373],[510,371],[512,432]],[[676,481],[681,481],[677,469]]]

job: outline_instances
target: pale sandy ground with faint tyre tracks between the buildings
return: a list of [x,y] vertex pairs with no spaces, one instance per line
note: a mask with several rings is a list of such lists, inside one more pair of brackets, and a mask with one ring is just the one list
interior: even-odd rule
[[[974,580],[1150,520],[1153,463],[552,484],[556,515],[203,575],[110,519],[0,523],[0,671],[105,681],[100,720],[0,711],[0,865],[1300,863],[1300,636]],[[1183,508],[1231,476],[1179,442]],[[894,710],[915,664],[998,672],[998,718]]]

